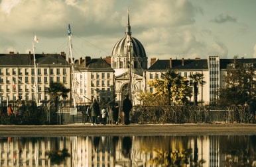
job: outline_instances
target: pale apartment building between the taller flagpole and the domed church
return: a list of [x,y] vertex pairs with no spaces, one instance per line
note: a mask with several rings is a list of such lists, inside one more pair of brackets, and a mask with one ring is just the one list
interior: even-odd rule
[[91,104],[93,98],[107,103],[114,100],[115,71],[105,60],[80,57],[74,69],[77,104]]

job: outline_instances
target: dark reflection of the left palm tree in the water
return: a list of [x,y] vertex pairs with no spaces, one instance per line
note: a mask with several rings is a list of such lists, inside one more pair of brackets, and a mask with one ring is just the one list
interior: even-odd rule
[[50,150],[46,152],[46,155],[48,155],[48,158],[50,158],[50,162],[52,164],[61,164],[62,162],[64,162],[66,157],[70,157],[67,149]]

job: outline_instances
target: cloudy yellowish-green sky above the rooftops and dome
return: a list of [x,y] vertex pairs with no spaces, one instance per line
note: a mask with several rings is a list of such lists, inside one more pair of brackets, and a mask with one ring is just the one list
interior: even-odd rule
[[256,58],[255,7],[255,0],[0,0],[0,53],[29,53],[34,43],[35,53],[69,55],[70,24],[75,59],[109,56],[129,9],[148,61]]

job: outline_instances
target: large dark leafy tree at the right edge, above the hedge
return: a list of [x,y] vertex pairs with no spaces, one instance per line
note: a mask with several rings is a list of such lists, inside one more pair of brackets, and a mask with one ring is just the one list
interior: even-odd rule
[[225,75],[225,87],[220,88],[219,104],[245,104],[252,96],[255,96],[256,81],[253,66],[244,65],[234,57],[234,63],[227,67]]

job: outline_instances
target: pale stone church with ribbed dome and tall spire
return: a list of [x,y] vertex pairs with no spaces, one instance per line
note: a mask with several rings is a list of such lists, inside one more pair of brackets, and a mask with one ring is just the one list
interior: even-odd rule
[[129,94],[133,105],[140,104],[137,96],[144,90],[143,72],[147,69],[147,54],[143,44],[131,36],[129,13],[125,36],[111,51],[111,67],[115,70],[116,102],[121,105],[124,96]]

